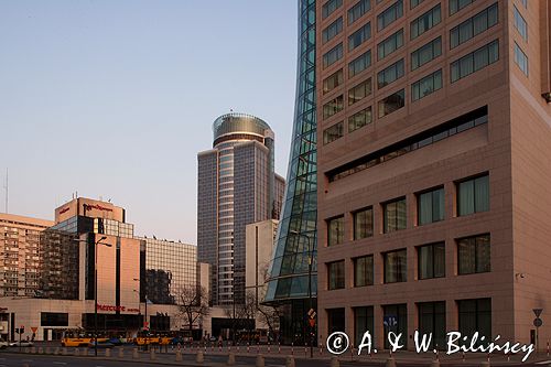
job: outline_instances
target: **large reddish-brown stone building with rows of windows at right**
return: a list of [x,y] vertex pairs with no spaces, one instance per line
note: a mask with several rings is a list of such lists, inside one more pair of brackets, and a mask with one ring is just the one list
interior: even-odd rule
[[532,309],[551,312],[550,9],[316,2],[320,335],[533,342]]

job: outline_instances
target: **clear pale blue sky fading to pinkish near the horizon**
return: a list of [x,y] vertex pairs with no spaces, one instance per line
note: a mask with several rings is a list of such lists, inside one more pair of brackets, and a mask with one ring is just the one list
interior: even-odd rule
[[295,0],[0,0],[0,211],[79,196],[137,235],[196,244],[197,158],[234,111],[276,132],[287,175]]

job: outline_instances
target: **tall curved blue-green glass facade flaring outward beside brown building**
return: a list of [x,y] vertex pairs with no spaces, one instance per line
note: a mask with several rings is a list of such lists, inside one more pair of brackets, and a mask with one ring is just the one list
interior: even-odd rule
[[317,290],[315,0],[299,0],[298,55],[288,185],[264,300],[289,309],[280,326],[287,343],[309,339],[307,311],[315,309]]

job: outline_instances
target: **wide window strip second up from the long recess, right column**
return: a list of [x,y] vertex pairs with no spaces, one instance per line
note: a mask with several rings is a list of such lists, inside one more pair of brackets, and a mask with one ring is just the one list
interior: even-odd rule
[[450,48],[457,47],[498,22],[497,2],[450,31]]

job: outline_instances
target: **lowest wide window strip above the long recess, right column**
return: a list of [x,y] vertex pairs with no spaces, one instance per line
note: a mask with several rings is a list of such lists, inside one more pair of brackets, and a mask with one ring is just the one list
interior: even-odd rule
[[474,72],[494,64],[499,60],[499,41],[495,40],[485,46],[461,57],[450,65],[452,83],[464,78]]

